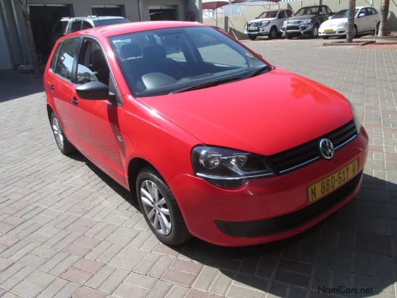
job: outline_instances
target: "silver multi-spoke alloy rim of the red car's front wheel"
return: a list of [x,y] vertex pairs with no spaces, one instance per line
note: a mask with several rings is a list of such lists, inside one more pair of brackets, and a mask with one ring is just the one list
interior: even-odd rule
[[144,180],[140,185],[140,199],[149,222],[160,234],[168,235],[172,227],[170,210],[157,185]]

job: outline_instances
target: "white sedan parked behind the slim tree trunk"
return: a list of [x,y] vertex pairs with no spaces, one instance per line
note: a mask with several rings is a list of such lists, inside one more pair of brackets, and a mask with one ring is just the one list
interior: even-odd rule
[[[342,9],[336,12],[329,20],[321,24],[319,36],[324,39],[330,36],[343,36],[347,33],[347,16],[349,10]],[[353,37],[357,33],[365,31],[375,31],[375,22],[379,29],[380,16],[378,11],[371,6],[356,7],[354,11],[354,30]]]

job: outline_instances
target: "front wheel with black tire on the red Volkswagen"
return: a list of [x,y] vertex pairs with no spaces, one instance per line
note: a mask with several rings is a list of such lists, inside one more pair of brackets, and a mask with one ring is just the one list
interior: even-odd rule
[[174,195],[154,168],[147,166],[139,171],[136,196],[147,225],[161,242],[179,245],[189,240],[191,235]]

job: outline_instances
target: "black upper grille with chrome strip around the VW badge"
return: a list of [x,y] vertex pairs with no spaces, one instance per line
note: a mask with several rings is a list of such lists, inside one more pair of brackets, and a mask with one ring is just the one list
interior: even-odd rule
[[357,130],[352,120],[327,135],[295,148],[270,155],[268,156],[268,161],[275,173],[285,174],[320,159],[319,142],[321,139],[329,139],[336,151],[353,141],[356,137]]

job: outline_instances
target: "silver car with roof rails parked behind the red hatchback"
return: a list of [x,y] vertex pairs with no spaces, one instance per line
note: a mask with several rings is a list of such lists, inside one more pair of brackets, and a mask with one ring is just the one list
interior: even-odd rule
[[90,15],[87,17],[63,17],[57,21],[53,27],[51,34],[51,42],[55,42],[62,36],[93,27],[100,27],[106,25],[129,23],[130,21],[121,16],[96,16]]

